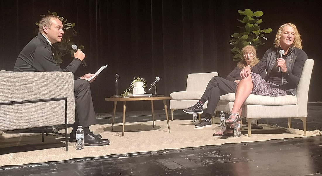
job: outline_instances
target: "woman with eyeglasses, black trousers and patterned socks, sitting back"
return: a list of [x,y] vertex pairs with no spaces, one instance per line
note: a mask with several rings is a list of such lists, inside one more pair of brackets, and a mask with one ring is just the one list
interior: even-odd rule
[[[246,66],[255,66],[259,60],[256,57],[256,49],[252,45],[248,45],[242,48],[242,54],[244,59],[241,60],[235,69],[226,77],[226,79],[214,76],[208,83],[207,88],[202,95],[201,99],[189,108],[183,109],[186,113],[203,113],[203,105],[208,100],[207,109],[204,110],[204,120],[195,125],[195,128],[211,127],[212,123],[210,121],[213,116],[217,104],[219,102],[220,96],[227,93],[235,93],[236,86],[239,84],[241,77],[240,72]],[[224,135],[221,132],[219,135]]]

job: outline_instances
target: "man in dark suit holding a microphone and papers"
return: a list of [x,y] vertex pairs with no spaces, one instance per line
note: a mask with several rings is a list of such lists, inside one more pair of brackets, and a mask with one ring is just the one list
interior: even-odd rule
[[[39,33],[20,52],[14,65],[14,72],[72,72],[75,73],[85,58],[85,54],[79,49],[74,53],[74,59],[65,68],[54,60],[52,44],[61,42],[64,34],[63,24],[58,16],[47,15],[39,22]],[[100,139],[101,135],[95,135],[90,131],[89,126],[96,124],[95,112],[90,92],[90,83],[86,78],[93,74],[85,74],[74,80],[76,118],[70,141],[76,136],[78,125],[84,130],[84,144],[87,146],[100,146],[109,144],[108,139]],[[92,79],[90,82],[92,82]]]

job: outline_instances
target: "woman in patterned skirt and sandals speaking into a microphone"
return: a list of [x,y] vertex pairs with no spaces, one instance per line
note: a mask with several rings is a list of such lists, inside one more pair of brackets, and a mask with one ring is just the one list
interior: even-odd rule
[[[303,65],[308,55],[302,50],[301,37],[294,24],[286,23],[279,27],[275,37],[275,47],[267,50],[255,66],[247,65],[240,73],[242,80],[236,88],[232,112],[226,120],[228,129],[242,120],[240,114],[245,100],[250,94],[264,96],[296,95],[296,87],[302,74]],[[280,57],[279,52],[284,50]],[[262,79],[258,73],[266,70]]]

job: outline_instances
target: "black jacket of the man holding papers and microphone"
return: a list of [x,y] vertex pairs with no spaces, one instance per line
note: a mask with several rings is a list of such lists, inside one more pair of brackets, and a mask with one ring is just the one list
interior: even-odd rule
[[14,72],[72,72],[75,73],[81,60],[75,58],[65,69],[54,60],[52,46],[38,33],[20,52]]

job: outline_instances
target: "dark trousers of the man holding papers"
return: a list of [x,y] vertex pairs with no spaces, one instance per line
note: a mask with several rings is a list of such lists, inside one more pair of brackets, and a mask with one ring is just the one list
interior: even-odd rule
[[90,83],[84,79],[74,80],[76,117],[73,131],[76,132],[78,125],[88,127],[96,124],[95,111],[90,92]]

